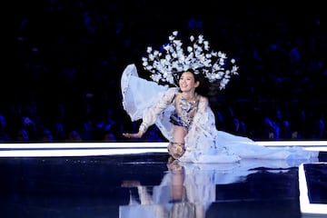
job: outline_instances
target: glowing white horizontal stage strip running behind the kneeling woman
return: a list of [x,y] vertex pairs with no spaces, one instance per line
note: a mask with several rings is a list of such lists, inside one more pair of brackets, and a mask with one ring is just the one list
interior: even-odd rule
[[[167,144],[166,142],[0,144],[0,157],[167,153]],[[268,147],[301,146],[306,150],[327,152],[327,141],[260,141],[257,144]]]

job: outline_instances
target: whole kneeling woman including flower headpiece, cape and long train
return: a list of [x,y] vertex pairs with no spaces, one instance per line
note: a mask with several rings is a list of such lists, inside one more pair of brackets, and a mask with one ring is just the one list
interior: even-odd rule
[[[207,96],[223,89],[231,75],[237,74],[237,67],[233,65],[232,70],[226,70],[226,56],[210,51],[201,35],[192,48],[188,48],[190,52],[186,55],[181,42],[174,36],[176,33],[170,37],[171,44],[164,47],[165,57],[157,51],[152,53],[150,48],[149,58],[143,59],[144,69],[152,73],[154,82],[140,78],[134,64],[124,69],[121,80],[124,110],[132,121],[143,119],[138,133],[124,133],[125,137],[141,138],[150,125],[156,124],[169,141],[169,154],[181,162],[233,163],[244,158],[317,159],[317,152],[291,147],[267,148],[247,137],[217,131]],[[213,57],[218,60],[213,61]],[[150,61],[152,65],[149,65]]]

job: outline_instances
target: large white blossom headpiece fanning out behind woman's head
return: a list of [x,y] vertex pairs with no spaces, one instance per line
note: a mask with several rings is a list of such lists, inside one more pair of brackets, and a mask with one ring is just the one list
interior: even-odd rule
[[143,57],[143,65],[146,71],[151,72],[154,82],[169,83],[175,86],[174,76],[188,69],[193,69],[195,74],[203,74],[210,83],[219,82],[222,90],[231,79],[233,74],[238,74],[238,66],[235,60],[226,62],[227,56],[223,52],[210,50],[209,42],[203,35],[197,40],[191,35],[191,45],[187,51],[183,49],[183,43],[177,39],[178,32],[174,31],[169,36],[169,43],[163,45],[163,51],[147,48],[148,57]]

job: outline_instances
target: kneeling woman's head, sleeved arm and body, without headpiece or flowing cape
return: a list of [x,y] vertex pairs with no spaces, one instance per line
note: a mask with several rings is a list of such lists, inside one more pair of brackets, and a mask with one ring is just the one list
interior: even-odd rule
[[[170,88],[162,96],[160,103],[148,110],[143,117],[143,123],[137,134],[123,134],[129,138],[141,138],[147,128],[154,124],[156,117],[163,112],[170,104],[175,108],[170,115],[170,122],[173,130],[173,141],[168,145],[169,154],[175,159],[181,157],[185,152],[184,138],[192,124],[194,114],[198,112],[199,105],[208,104],[208,100],[195,92],[195,88],[200,85],[200,81],[195,79],[192,69],[189,69],[179,78],[180,88]],[[201,103],[200,103],[201,102]],[[164,131],[164,130],[163,130]]]

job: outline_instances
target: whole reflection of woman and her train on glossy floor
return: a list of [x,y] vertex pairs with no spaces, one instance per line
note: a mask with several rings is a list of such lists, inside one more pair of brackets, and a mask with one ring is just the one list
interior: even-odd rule
[[[120,206],[120,217],[201,218],[216,201],[216,184],[240,183],[263,167],[271,173],[287,172],[300,163],[285,160],[241,160],[239,163],[168,163],[168,172],[156,186],[124,181],[123,187],[136,187],[138,198]],[[260,170],[256,170],[260,167]],[[275,169],[275,170],[274,170]],[[219,190],[218,190],[219,191]]]

